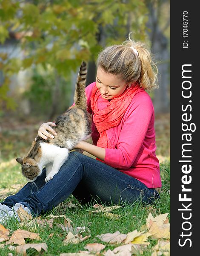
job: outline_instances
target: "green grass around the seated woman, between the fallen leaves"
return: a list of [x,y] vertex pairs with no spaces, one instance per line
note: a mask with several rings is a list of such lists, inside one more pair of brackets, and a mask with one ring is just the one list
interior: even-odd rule
[[[118,245],[111,245],[105,242],[100,241],[96,236],[103,233],[114,233],[120,231],[120,233],[127,234],[135,229],[140,231],[143,224],[146,224],[146,218],[149,215],[149,212],[153,210],[153,216],[170,212],[170,163],[165,161],[160,164],[161,167],[161,177],[163,188],[160,194],[160,199],[157,199],[154,204],[141,204],[136,202],[135,204],[125,204],[124,207],[115,209],[113,213],[120,215],[119,219],[110,219],[105,217],[102,213],[89,213],[92,208],[92,205],[86,207],[80,206],[77,204],[75,198],[70,196],[63,204],[56,207],[51,211],[54,215],[65,214],[67,218],[70,218],[72,221],[73,227],[86,226],[91,230],[91,237],[86,239],[86,241],[81,242],[80,244],[68,244],[63,245],[63,239],[66,237],[67,232],[63,231],[61,228],[54,225],[53,228],[49,227],[40,227],[37,226],[34,230],[27,227],[21,227],[19,223],[14,220],[11,220],[7,224],[7,228],[11,230],[11,233],[18,228],[29,230],[31,232],[40,233],[41,241],[29,241],[33,243],[46,243],[48,245],[48,252],[42,252],[40,254],[36,253],[35,250],[27,250],[27,255],[60,255],[60,253],[67,252],[78,252],[79,250],[85,250],[84,246],[88,243],[100,242],[106,245],[104,250],[113,250]],[[22,178],[20,173],[20,166],[13,164],[13,166],[5,166],[0,170],[0,180],[1,188],[11,187],[12,184],[25,183],[26,181]],[[78,205],[77,208],[65,207],[67,202],[73,201]],[[170,218],[170,215],[168,215]],[[45,216],[43,216],[45,218]],[[54,235],[49,238],[49,235],[54,233]],[[87,233],[85,233],[87,235]],[[148,249],[143,251],[144,256],[151,256],[151,248],[157,244],[157,239],[148,240],[150,245]],[[28,242],[28,241],[27,241]],[[0,249],[1,256],[7,256],[11,251],[6,246],[3,249]],[[12,252],[13,255],[19,255]],[[103,255],[103,254],[102,254]]]

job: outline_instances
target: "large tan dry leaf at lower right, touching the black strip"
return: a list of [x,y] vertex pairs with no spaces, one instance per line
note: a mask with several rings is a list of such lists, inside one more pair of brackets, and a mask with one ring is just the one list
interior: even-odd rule
[[162,224],[160,226],[157,225],[156,222],[150,219],[149,221],[149,233],[151,233],[151,237],[154,239],[165,238],[170,239],[170,224]]

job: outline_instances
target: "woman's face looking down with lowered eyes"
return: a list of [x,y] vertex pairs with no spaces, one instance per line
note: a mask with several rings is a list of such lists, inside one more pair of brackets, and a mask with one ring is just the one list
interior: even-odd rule
[[106,73],[102,68],[98,67],[96,85],[102,98],[109,100],[120,96],[128,84],[120,79],[119,76]]

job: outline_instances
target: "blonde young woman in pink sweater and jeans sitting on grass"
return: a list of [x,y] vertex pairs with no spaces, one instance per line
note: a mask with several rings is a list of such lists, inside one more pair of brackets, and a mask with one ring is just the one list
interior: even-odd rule
[[[32,186],[27,183],[16,195],[0,204],[0,220],[17,216],[22,206],[40,215],[74,195],[83,204],[151,203],[161,188],[156,157],[154,108],[146,89],[155,86],[156,72],[151,54],[142,42],[125,41],[107,47],[97,60],[96,82],[86,87],[88,111],[92,114],[93,144],[82,141],[60,171],[47,183],[46,169]],[[44,139],[55,131],[52,122],[40,126]]]

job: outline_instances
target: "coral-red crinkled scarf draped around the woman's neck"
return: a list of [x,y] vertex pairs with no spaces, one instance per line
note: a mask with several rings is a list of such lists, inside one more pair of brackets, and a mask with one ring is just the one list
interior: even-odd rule
[[111,99],[110,102],[105,99],[105,108],[99,110],[98,102],[102,102],[103,98],[96,84],[94,85],[91,90],[91,109],[94,112],[93,121],[100,134],[97,146],[115,148],[119,138],[117,125],[120,124],[131,100],[139,89],[139,85],[132,84],[129,89],[126,89],[120,96]]

